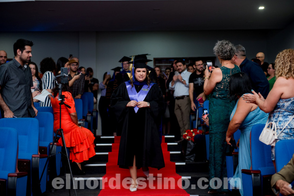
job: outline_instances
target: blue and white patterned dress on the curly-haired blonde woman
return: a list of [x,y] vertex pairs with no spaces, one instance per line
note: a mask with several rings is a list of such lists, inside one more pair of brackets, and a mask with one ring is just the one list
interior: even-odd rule
[[[276,122],[277,134],[281,133],[282,129],[290,118],[294,115],[294,98],[280,98],[274,110],[270,113],[269,122]],[[292,120],[283,132],[278,135],[276,143],[282,139],[294,139],[294,120]],[[275,147],[272,146],[272,160],[275,160]]]

